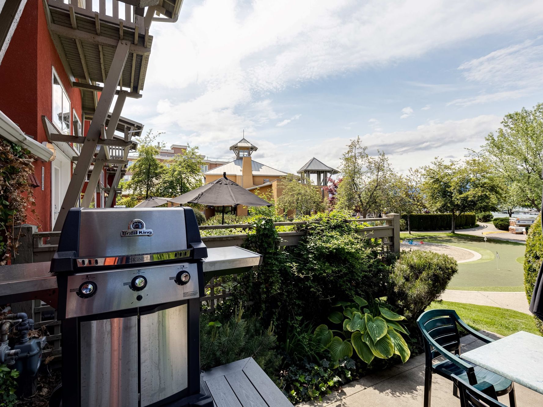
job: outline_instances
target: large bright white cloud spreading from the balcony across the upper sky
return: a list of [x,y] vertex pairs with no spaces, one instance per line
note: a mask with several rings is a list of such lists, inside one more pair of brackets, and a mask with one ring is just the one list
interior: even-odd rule
[[276,92],[483,35],[539,28],[540,11],[536,1],[506,0],[203,0],[184,5],[177,23],[151,26],[145,93],[155,97],[138,103],[140,111],[156,110],[146,125],[190,134],[193,144],[231,140],[242,129],[254,135],[279,118]]

